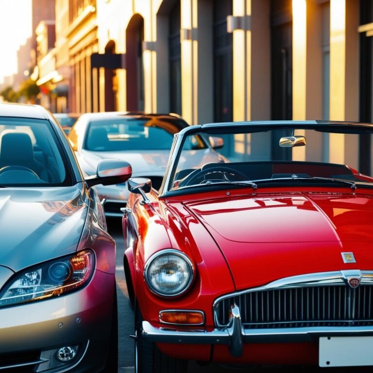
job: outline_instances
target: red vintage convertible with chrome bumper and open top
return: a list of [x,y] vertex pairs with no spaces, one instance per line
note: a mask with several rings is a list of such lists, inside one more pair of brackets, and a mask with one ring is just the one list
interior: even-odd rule
[[136,372],[185,372],[187,360],[373,365],[373,178],[356,170],[372,133],[197,125],[175,136],[158,191],[129,179]]

